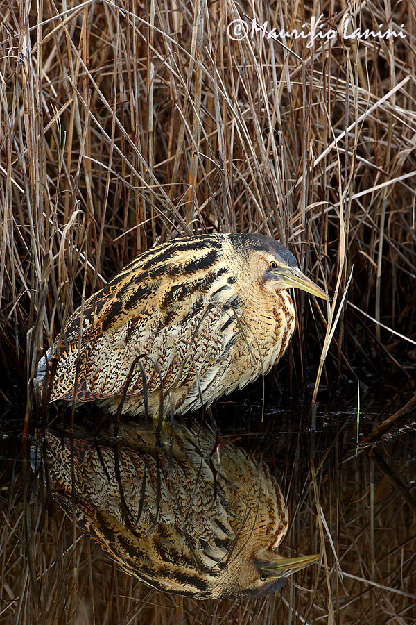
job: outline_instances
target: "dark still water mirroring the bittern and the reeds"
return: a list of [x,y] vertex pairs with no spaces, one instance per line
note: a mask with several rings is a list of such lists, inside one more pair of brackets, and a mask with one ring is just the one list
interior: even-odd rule
[[[35,431],[22,441],[19,415],[9,411],[1,421],[0,623],[415,624],[416,417],[375,447],[357,445],[413,392],[394,382],[376,388],[361,397],[359,419],[356,387],[321,401],[315,415],[300,401],[266,397],[263,409],[220,401],[212,414],[159,434],[152,424],[120,424],[115,446],[114,423],[92,436],[94,410],[77,415],[72,446],[51,411],[46,472]],[[100,515],[100,501],[111,518]],[[247,590],[247,562],[277,542],[284,562],[319,554],[318,562],[265,596],[224,590]],[[139,552],[147,567],[135,571]],[[184,567],[197,572],[189,597],[133,576],[184,590]],[[207,574],[216,567],[222,586]]]

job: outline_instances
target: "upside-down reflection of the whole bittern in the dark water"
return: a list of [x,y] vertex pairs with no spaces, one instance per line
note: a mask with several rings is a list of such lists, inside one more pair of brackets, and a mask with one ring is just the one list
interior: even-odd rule
[[[122,569],[193,597],[261,597],[318,556],[276,551],[288,510],[265,463],[183,426],[121,424],[117,447],[46,434],[53,497]],[[75,492],[72,492],[72,484]]]

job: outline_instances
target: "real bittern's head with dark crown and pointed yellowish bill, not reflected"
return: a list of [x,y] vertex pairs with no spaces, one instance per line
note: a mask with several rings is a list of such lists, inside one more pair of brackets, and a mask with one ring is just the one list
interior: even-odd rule
[[279,291],[297,288],[328,299],[327,294],[297,267],[293,253],[284,245],[264,235],[245,237],[252,274],[266,288]]

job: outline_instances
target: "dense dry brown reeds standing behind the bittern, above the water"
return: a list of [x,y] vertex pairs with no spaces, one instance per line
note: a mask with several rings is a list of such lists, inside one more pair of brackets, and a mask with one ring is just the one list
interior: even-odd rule
[[284,47],[261,33],[227,35],[254,15],[268,30],[306,24],[307,33],[321,12],[327,32],[347,11],[338,1],[3,3],[9,390],[26,396],[40,351],[82,297],[141,250],[187,232],[270,234],[329,285],[331,310],[296,294],[298,383],[318,390],[328,348],[325,383],[374,369],[376,353],[394,367],[415,358],[415,6],[348,7],[354,28],[382,23],[404,38],[338,35],[307,47],[289,37]]

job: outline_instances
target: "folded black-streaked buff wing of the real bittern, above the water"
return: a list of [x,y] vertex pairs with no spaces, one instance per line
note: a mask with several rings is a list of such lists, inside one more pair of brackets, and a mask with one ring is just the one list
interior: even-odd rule
[[192,377],[207,387],[243,310],[220,247],[201,235],[149,250],[87,300],[65,328],[51,399],[72,399],[78,358],[79,401],[121,395],[137,359],[127,397],[143,391],[142,371],[150,393]]

